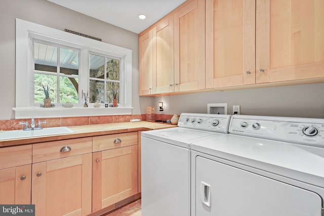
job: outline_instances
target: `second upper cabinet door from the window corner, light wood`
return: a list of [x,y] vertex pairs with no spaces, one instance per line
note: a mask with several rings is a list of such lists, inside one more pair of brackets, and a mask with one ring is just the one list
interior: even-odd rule
[[[174,18],[167,16],[153,28],[156,41],[156,74],[153,88],[156,94],[174,92]],[[153,57],[153,58],[154,58]]]

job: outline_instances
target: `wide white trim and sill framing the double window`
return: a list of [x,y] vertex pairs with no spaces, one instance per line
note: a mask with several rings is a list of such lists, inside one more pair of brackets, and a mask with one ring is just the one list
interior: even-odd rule
[[[125,67],[125,88],[123,96],[120,96],[120,104],[123,107],[100,108],[42,108],[29,106],[30,87],[29,77],[33,72],[30,62],[30,34],[44,35],[55,40],[65,41],[67,44],[89,48],[90,52],[106,53],[118,56],[121,59],[120,67]],[[80,56],[80,64],[89,67],[89,52]],[[26,81],[28,80],[28,81]],[[82,84],[80,83],[82,82]],[[79,83],[88,87],[89,79],[79,77]],[[127,83],[127,84],[126,84]],[[27,91],[28,90],[28,91]],[[80,97],[80,93],[79,93]],[[91,105],[90,105],[91,106]],[[132,113],[132,50],[110,45],[105,42],[93,40],[87,37],[71,34],[47,26],[16,19],[16,107],[15,118],[29,117],[65,117],[65,116],[96,116],[96,115],[122,115]]]

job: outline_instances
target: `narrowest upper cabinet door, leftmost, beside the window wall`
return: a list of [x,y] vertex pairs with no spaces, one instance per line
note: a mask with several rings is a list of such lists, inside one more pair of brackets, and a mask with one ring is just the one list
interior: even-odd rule
[[139,95],[153,94],[153,43],[153,29],[139,37]]

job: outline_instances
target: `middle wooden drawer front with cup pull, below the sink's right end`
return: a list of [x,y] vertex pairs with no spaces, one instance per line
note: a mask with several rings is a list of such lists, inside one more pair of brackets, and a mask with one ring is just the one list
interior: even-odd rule
[[92,138],[32,144],[32,162],[53,160],[92,152]]

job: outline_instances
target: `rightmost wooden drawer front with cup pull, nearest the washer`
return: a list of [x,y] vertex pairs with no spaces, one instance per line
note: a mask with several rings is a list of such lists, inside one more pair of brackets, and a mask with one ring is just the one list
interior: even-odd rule
[[137,132],[93,137],[93,152],[137,145]]

